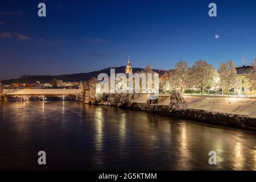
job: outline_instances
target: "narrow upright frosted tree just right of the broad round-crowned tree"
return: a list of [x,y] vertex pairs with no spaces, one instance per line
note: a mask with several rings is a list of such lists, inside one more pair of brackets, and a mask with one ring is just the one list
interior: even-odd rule
[[221,63],[218,67],[218,76],[220,77],[220,86],[223,89],[228,89],[236,85],[237,69],[234,61],[230,60],[228,63]]

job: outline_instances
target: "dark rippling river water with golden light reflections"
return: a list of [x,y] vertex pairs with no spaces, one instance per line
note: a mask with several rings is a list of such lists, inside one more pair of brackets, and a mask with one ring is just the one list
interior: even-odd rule
[[256,170],[255,133],[78,102],[0,103],[0,143],[2,170]]

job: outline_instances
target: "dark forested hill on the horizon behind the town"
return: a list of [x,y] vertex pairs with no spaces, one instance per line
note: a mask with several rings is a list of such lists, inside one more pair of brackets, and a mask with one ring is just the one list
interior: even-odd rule
[[[116,67],[115,73],[124,73],[125,66]],[[92,77],[97,77],[100,73],[106,73],[110,75],[110,69],[112,68],[105,68],[99,71],[89,72],[89,73],[75,73],[69,75],[23,75],[20,78],[10,79],[10,80],[2,80],[2,84],[11,84],[14,82],[26,82],[26,83],[33,83],[35,81],[44,82],[51,82],[53,78],[57,78],[58,80],[63,80],[64,82],[73,82],[73,81],[86,81]],[[136,73],[137,71],[142,71],[142,68],[133,68],[133,72]],[[158,70],[154,70],[158,71]]]

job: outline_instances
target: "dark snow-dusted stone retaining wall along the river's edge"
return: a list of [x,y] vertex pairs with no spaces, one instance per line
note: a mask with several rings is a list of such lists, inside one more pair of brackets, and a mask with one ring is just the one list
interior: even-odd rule
[[168,106],[133,102],[133,100],[138,97],[138,94],[105,94],[96,102],[96,104],[121,107],[124,109],[141,110],[150,113],[168,114],[173,117],[211,123],[214,125],[222,125],[256,131],[256,118],[254,117],[189,108],[174,109],[175,107],[172,107],[172,105]]

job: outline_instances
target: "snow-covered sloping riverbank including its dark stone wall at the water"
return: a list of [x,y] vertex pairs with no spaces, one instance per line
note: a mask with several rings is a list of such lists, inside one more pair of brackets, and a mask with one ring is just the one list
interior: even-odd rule
[[[97,98],[96,105],[109,105],[150,113],[168,114],[173,117],[214,125],[256,131],[256,117],[254,117],[254,114],[256,114],[256,109],[254,109],[256,100],[248,102],[246,99],[243,100],[241,98],[241,100],[230,102],[232,98],[192,96],[184,98],[181,96],[182,98],[180,98],[180,96],[176,96],[172,104],[170,104],[170,97],[161,102],[154,101],[155,103],[151,104],[147,100],[148,96],[149,94],[104,94],[104,96]],[[186,102],[188,106],[184,106]],[[230,113],[226,111],[230,111]],[[245,113],[246,115],[240,113]]]

